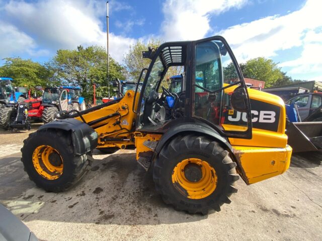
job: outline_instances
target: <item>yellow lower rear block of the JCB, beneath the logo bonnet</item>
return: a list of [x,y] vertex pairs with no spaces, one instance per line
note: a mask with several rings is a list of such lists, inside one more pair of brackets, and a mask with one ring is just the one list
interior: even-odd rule
[[290,165],[292,148],[233,146],[238,172],[247,184],[284,173]]

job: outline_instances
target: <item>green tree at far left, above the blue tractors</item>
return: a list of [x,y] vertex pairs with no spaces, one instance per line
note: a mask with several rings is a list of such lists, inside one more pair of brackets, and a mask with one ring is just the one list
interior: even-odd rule
[[13,78],[15,86],[31,88],[59,84],[54,80],[53,71],[48,66],[20,57],[5,58],[5,60],[4,65],[0,67],[0,75]]

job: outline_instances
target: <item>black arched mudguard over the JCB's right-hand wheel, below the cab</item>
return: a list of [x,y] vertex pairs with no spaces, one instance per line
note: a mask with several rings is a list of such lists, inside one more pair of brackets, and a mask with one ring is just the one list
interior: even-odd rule
[[[180,133],[195,133],[195,134],[201,134],[209,136],[215,140],[217,140],[219,143],[221,143],[225,149],[229,150],[231,153],[233,153],[233,148],[229,144],[229,142],[220,136],[215,130],[208,128],[207,126],[203,125],[202,123],[183,123],[180,125],[173,126],[170,128],[158,141],[157,146],[154,150],[154,157],[159,154],[161,149],[164,147],[164,145],[172,139],[174,136],[180,134]],[[152,160],[153,160],[152,159]]]

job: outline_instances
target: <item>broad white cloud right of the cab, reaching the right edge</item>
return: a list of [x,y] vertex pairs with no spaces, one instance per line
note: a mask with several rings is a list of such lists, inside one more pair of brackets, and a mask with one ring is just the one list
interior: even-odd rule
[[[315,61],[317,63],[321,61],[313,56],[314,52],[320,51],[319,46],[322,46],[321,34],[314,32],[322,27],[322,18],[318,17],[321,7],[322,2],[309,0],[302,9],[285,16],[266,17],[251,23],[232,26],[216,34],[227,39],[238,62],[259,56],[273,57],[277,55],[277,51],[303,47],[302,55],[305,60],[288,61],[280,66],[295,66],[307,61],[310,66],[306,71],[311,71],[315,68],[312,64]],[[313,40],[314,46],[309,44]],[[290,73],[295,71],[291,70]],[[303,71],[303,69],[297,71]]]

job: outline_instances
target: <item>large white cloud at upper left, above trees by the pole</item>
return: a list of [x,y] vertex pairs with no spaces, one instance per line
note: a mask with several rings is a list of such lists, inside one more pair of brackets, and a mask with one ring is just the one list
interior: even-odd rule
[[[126,5],[119,6],[115,3],[114,11],[129,9]],[[103,31],[105,23],[99,19],[100,16],[106,15],[105,10],[105,3],[97,1],[10,1],[0,9],[0,19],[11,21],[6,26],[12,27],[12,35],[15,33],[13,39],[18,42],[13,44],[17,50],[6,48],[4,54],[8,56],[21,49],[34,56],[49,54],[49,51],[53,52],[59,48],[74,49],[78,45],[106,46],[106,32]],[[1,26],[4,28],[5,25]],[[135,40],[113,33],[110,33],[109,37],[110,54],[117,61],[121,61],[129,45]],[[22,44],[23,41],[25,44]],[[46,50],[36,50],[39,46]],[[4,47],[5,43],[2,41],[1,49],[5,49]]]

